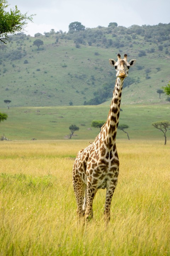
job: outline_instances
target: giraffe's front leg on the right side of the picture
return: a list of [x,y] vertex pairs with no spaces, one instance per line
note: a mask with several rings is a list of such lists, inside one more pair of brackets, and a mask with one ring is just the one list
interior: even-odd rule
[[112,202],[113,193],[114,193],[117,183],[118,183],[118,180],[114,180],[109,185],[109,187],[107,188],[107,191],[106,191],[106,200],[105,200],[105,205],[104,205],[104,219],[107,222],[109,222],[111,219],[111,202]]

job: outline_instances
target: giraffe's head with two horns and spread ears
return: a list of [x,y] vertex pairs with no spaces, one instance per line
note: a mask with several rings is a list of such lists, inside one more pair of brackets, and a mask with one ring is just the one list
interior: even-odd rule
[[133,66],[136,63],[135,59],[127,60],[127,54],[124,54],[124,59],[120,58],[120,54],[118,53],[118,61],[116,62],[114,59],[109,59],[111,65],[113,65],[116,69],[116,76],[118,78],[125,78],[128,76],[130,66]]

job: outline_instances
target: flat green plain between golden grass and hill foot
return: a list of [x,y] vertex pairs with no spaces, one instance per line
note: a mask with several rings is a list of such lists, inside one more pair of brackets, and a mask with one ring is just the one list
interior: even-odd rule
[[[130,139],[160,139],[163,133],[151,123],[170,119],[170,105],[121,105],[120,124],[127,124]],[[0,134],[11,140],[63,139],[68,135],[71,124],[80,129],[72,139],[93,140],[100,129],[92,128],[93,120],[106,120],[109,106],[63,106],[63,107],[11,107],[1,109],[8,114],[6,121],[0,124]],[[91,128],[91,129],[89,129]],[[169,130],[167,138],[169,140]],[[118,130],[117,139],[127,138]]]

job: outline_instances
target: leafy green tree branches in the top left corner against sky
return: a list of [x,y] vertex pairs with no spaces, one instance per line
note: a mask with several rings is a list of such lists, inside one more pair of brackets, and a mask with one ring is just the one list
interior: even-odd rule
[[27,25],[27,21],[33,20],[34,15],[22,14],[17,6],[6,11],[9,4],[6,0],[0,0],[0,41],[6,44],[10,41],[9,34],[21,32]]

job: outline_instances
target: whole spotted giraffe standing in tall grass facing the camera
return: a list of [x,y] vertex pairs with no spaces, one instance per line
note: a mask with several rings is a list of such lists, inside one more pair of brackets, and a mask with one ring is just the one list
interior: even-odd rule
[[85,215],[88,221],[93,217],[92,203],[98,189],[106,188],[104,219],[110,220],[112,196],[118,182],[119,158],[115,143],[119,124],[119,112],[123,82],[135,59],[127,60],[127,54],[118,61],[109,59],[116,69],[116,82],[111,107],[106,123],[93,143],[78,152],[73,165],[73,188],[77,200],[77,214]]

